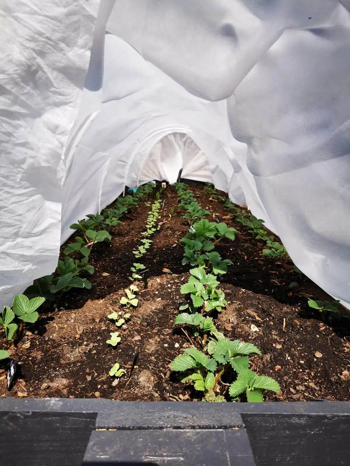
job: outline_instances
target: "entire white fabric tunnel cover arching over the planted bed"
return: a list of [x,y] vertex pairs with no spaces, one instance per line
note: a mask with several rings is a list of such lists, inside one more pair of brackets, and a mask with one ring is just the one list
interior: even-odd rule
[[297,267],[350,303],[346,7],[7,2],[1,302],[54,270],[70,223],[159,161],[155,176],[174,178],[181,164],[194,179],[211,175],[266,219]]

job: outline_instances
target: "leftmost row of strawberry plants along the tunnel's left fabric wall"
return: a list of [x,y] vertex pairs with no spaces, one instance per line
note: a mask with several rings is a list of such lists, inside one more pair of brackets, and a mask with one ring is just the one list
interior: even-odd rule
[[[97,243],[110,242],[112,227],[119,225],[122,216],[137,206],[153,188],[153,183],[142,185],[133,196],[119,197],[112,208],[107,208],[100,214],[88,214],[86,219],[78,220],[70,226],[80,235],[64,249],[65,257],[58,260],[55,272],[35,280],[23,295],[14,297],[12,309],[5,306],[0,314],[0,327],[5,331],[7,340],[20,340],[23,323],[36,322],[39,317],[37,309],[45,301],[56,303],[57,307],[63,294],[72,288],[91,289],[86,276],[94,273],[90,260],[92,248]],[[8,356],[7,351],[0,350],[0,360]]]

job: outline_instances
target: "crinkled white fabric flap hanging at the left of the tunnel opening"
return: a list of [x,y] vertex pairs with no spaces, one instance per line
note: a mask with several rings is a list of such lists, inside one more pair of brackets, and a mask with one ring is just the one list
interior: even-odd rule
[[97,11],[96,0],[0,5],[0,305],[57,265],[63,149]]

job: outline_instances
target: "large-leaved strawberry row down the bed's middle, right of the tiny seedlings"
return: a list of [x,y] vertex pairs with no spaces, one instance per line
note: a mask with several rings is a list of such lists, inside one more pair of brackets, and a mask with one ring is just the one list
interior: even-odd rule
[[260,350],[252,343],[224,337],[217,331],[214,320],[227,305],[218,277],[232,263],[222,259],[214,248],[223,238],[234,240],[238,232],[225,223],[203,219],[210,212],[201,209],[186,185],[179,183],[175,187],[180,207],[188,212],[184,218],[191,225],[189,233],[182,238],[185,244],[182,263],[197,267],[189,270],[189,280],[181,287],[182,295],[188,298],[179,307],[181,313],[175,319],[175,325],[192,328],[194,340],[190,337],[189,340],[193,344],[175,357],[171,368],[181,373],[181,382],[191,382],[196,391],[203,393],[203,401],[226,401],[228,386],[228,395],[233,401],[262,402],[261,391],[279,392],[280,386],[271,377],[259,376],[249,369],[249,355],[261,354]]

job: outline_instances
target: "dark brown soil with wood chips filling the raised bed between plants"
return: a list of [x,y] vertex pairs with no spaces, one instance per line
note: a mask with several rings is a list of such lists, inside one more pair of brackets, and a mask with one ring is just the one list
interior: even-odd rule
[[[263,256],[263,242],[245,232],[220,201],[211,200],[202,187],[191,189],[215,219],[242,232],[236,240],[221,241],[216,247],[233,261],[229,273],[219,279],[229,305],[217,315],[217,328],[225,336],[259,347],[263,356],[251,358],[252,369],[274,377],[281,386],[277,395],[266,393],[266,400],[350,400],[350,323],[346,319],[324,323],[317,313],[313,315],[308,299],[331,298],[306,277],[301,279],[292,263]],[[70,292],[58,304],[59,309],[42,313],[38,322],[27,324],[17,348],[9,348],[9,343],[0,339],[0,348],[9,348],[19,364],[18,377],[9,392],[6,368],[0,369],[0,396],[197,399],[193,387],[177,382],[169,369],[174,357],[190,346],[182,329],[174,329],[182,302],[180,286],[190,268],[181,265],[180,239],[189,225],[182,219],[174,188],[168,187],[162,194],[161,230],[151,238],[152,247],[140,260],[132,254],[140,244],[147,203],[154,197],[155,193],[149,195],[114,228],[109,245],[95,247],[90,291]],[[172,207],[175,212],[170,217]],[[131,319],[117,329],[107,314],[125,312],[119,300],[124,288],[130,286],[130,267],[138,261],[146,265],[144,280],[134,282],[140,288],[139,305],[131,309]],[[292,282],[299,286],[288,288]],[[332,326],[335,324],[337,327]],[[116,330],[122,340],[113,348],[105,342]],[[137,349],[139,356],[126,385]],[[116,362],[126,370],[117,382],[108,376]],[[222,394],[226,389],[221,385]]]

